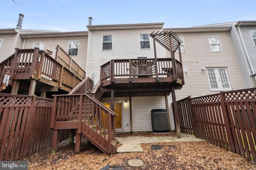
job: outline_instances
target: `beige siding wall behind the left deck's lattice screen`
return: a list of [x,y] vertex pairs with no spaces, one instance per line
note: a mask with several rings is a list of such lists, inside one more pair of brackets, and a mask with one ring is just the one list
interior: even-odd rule
[[34,42],[44,42],[44,50],[48,49],[52,51],[52,57],[55,59],[56,47],[60,45],[64,51],[68,53],[68,42],[79,40],[78,56],[71,56],[76,63],[82,67],[83,70],[86,69],[86,56],[87,56],[87,43],[88,36],[79,37],[50,37],[50,38],[27,38],[25,43],[25,49],[31,49],[34,46]]

